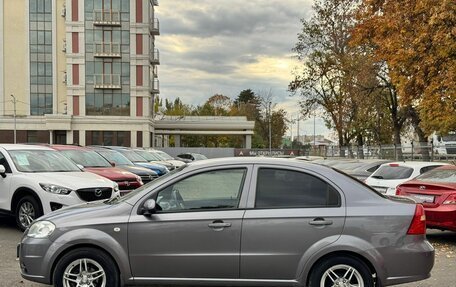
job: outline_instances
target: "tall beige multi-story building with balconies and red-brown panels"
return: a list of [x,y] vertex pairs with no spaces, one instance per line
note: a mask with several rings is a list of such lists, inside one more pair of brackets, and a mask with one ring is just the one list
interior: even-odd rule
[[0,142],[148,147],[157,0],[0,0]]

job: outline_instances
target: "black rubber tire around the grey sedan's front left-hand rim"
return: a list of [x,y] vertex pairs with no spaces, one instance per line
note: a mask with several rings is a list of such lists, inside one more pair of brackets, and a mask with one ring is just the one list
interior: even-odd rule
[[[111,257],[106,254],[105,252],[98,250],[96,248],[79,248],[75,250],[71,250],[67,254],[65,254],[57,263],[54,270],[54,286],[56,287],[63,287],[63,278],[64,273],[67,268],[70,268],[72,263],[80,259],[88,259],[88,261],[92,260],[99,264],[105,273],[105,286],[106,287],[119,287],[120,286],[120,279],[119,279],[119,271],[117,270],[117,266],[115,262],[111,259]],[[87,264],[87,263],[86,263]],[[87,265],[86,265],[87,266]],[[93,272],[96,270],[97,266],[93,265],[93,262],[88,263],[88,267],[93,267],[91,271]],[[77,270],[77,268],[75,269]],[[81,270],[79,270],[81,272]],[[98,281],[94,281],[94,286],[99,287],[101,286],[100,279]],[[103,278],[101,279],[103,280]],[[76,286],[77,284],[74,284]]]

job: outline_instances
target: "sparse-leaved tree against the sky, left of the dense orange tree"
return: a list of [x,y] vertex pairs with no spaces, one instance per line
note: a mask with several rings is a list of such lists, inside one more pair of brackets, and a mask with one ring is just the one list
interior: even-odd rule
[[[351,73],[358,50],[349,45],[350,33],[355,25],[356,0],[318,0],[314,15],[301,20],[302,30],[293,49],[302,69],[290,84],[302,96],[304,115],[323,109],[327,126],[334,128],[339,145],[348,145],[360,126],[354,124],[359,117],[360,97],[354,92]],[[365,99],[364,99],[365,100]],[[363,123],[365,121],[358,122]]]

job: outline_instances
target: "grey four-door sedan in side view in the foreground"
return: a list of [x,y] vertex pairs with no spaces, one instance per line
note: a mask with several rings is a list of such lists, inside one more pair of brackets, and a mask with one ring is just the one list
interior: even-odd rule
[[387,286],[430,276],[421,205],[328,167],[225,158],[39,218],[22,276],[55,286]]

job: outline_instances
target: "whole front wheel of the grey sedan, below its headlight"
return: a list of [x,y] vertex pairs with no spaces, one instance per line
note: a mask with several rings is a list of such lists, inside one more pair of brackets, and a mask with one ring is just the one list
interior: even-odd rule
[[105,252],[95,248],[70,251],[57,263],[54,272],[57,287],[117,287],[119,272]]

